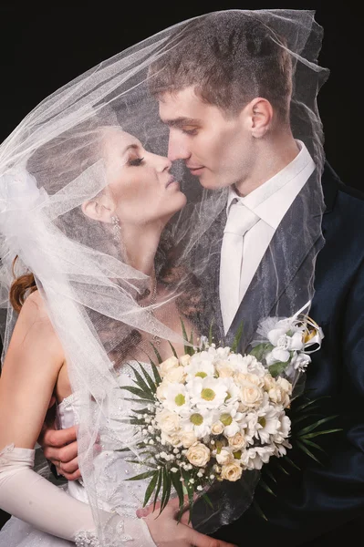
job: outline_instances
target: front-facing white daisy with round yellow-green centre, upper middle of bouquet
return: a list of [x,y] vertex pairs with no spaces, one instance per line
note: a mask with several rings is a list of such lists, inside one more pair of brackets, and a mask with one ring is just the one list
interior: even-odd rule
[[192,404],[198,408],[219,408],[227,396],[226,384],[219,378],[194,377],[186,387]]

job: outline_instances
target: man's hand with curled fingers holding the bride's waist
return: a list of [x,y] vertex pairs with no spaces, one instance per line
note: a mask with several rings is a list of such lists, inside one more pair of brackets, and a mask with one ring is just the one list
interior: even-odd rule
[[67,480],[77,480],[81,473],[78,469],[78,443],[76,427],[56,429],[54,425],[44,424],[38,439],[45,458],[56,466],[57,474]]

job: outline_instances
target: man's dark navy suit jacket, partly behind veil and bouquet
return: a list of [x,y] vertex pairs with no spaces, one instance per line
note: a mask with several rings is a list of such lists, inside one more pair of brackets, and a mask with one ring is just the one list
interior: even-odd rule
[[[299,194],[244,295],[227,339],[233,338],[243,321],[240,349],[244,351],[255,332],[258,319],[255,310],[264,309],[266,315],[287,315],[289,287],[292,283],[299,286],[301,274],[307,280],[305,264],[319,251],[309,315],[322,327],[325,338],[307,367],[306,388],[311,390],[310,397],[324,397],[320,399],[322,414],[338,415],[325,428],[342,428],[342,431],[321,438],[327,455],[316,454],[323,466],[307,456],[294,455],[293,449],[289,456],[296,458],[301,471],[276,476],[276,497],[257,487],[255,501],[267,521],[252,505],[240,519],[213,534],[242,547],[303,545],[360,515],[364,517],[364,197],[342,184],[328,164],[321,182],[326,204],[322,218],[325,243],[314,229],[318,213],[315,203],[312,203],[312,230],[307,226],[301,241],[295,232],[303,195]],[[307,191],[309,181],[302,190]],[[280,253],[279,231],[291,234],[290,242],[286,240],[289,253],[286,249]],[[211,290],[216,292],[214,298],[210,294],[206,304],[210,309],[206,307],[205,313],[216,316],[220,313],[216,304],[218,272],[212,273],[212,279]],[[270,284],[270,290],[265,285],[262,291],[262,283]],[[303,290],[296,302],[305,304],[307,296]],[[216,335],[223,336],[221,332]],[[325,545],[324,537],[315,544]]]

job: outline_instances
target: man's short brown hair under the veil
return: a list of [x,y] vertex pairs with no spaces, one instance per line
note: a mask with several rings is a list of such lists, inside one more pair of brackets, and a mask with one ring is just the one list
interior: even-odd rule
[[227,114],[266,98],[289,119],[292,61],[285,40],[253,12],[218,12],[188,21],[151,64],[154,97],[193,86],[203,101]]

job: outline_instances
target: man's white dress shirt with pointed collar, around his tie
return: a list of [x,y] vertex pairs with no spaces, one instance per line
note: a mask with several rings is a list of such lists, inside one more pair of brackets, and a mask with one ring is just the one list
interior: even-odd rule
[[[228,217],[233,202],[240,201],[251,212],[254,212],[259,217],[259,220],[244,234],[238,298],[232,300],[222,297],[223,294],[226,294],[227,287],[223,286],[224,278],[220,275],[220,301],[225,333],[227,333],[233,322],[239,304],[243,300],[249,284],[252,282],[259,263],[278,225],[299,191],[302,190],[308,178],[315,170],[315,163],[305,144],[300,140],[296,140],[296,143],[300,149],[296,158],[286,165],[283,170],[276,173],[269,181],[266,181],[244,197],[238,196],[233,187],[229,189],[227,200]],[[242,211],[243,216],[244,208],[242,208]],[[223,257],[222,254],[223,260],[226,260],[226,256]],[[222,263],[221,273],[224,270],[224,266],[226,264]],[[237,284],[234,284],[234,286],[237,286]]]

